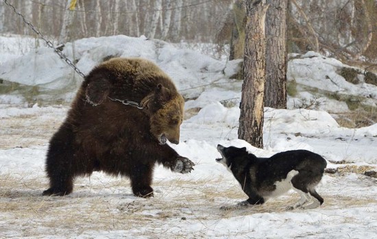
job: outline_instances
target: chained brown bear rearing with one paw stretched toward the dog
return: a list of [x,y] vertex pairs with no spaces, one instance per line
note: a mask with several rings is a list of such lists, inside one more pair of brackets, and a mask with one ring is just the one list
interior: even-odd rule
[[153,196],[156,162],[178,173],[193,169],[166,144],[179,143],[183,113],[182,95],[156,64],[140,58],[99,64],[49,142],[43,195],[69,194],[75,177],[104,171],[129,177],[136,196]]

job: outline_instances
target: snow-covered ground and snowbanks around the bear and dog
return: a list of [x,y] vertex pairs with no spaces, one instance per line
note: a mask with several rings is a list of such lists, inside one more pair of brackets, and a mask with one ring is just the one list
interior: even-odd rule
[[[1,40],[6,43],[14,38]],[[27,53],[12,47],[3,49],[2,79],[60,89],[68,84],[64,77],[74,79],[75,87],[80,83],[80,78],[72,77],[71,68],[60,63],[48,49]],[[27,47],[23,45],[22,49]],[[68,51],[69,47],[65,49]],[[186,102],[187,118],[181,127],[180,144],[172,147],[193,160],[195,170],[181,175],[158,166],[154,173],[155,197],[151,199],[134,197],[128,179],[103,173],[77,178],[69,196],[42,197],[42,190],[48,186],[44,173],[48,141],[69,106],[29,107],[21,95],[1,95],[0,238],[377,237],[377,180],[364,175],[365,171],[376,171],[377,124],[343,128],[325,111],[293,109],[293,102],[299,99],[290,98],[291,110],[265,108],[265,149],[256,149],[237,139],[241,84],[229,79],[234,74],[234,62],[214,60],[165,42],[125,36],[82,39],[75,42],[75,49],[76,58],[80,59],[77,66],[85,73],[107,55],[119,55],[149,58],[171,75],[182,94],[192,98]],[[335,76],[334,67],[340,62],[308,54],[311,58],[302,60],[310,65],[310,71],[308,66],[297,68],[300,61],[291,67],[289,74],[296,81],[304,83],[302,75],[306,74],[306,81],[313,81],[318,87],[321,76]],[[30,66],[40,66],[41,62],[47,65]],[[329,62],[334,67],[328,67]],[[336,83],[352,94],[363,95],[367,88],[376,99],[376,86],[350,86],[341,77]],[[208,84],[211,85],[195,88]],[[194,89],[185,91],[187,88]],[[337,105],[330,100],[324,102],[326,110]],[[197,114],[193,114],[195,109],[200,109]],[[220,210],[223,205],[234,205],[247,197],[226,168],[215,162],[219,158],[217,144],[247,147],[260,157],[308,149],[323,155],[328,168],[338,171],[324,175],[317,191],[325,202],[314,210],[285,210],[299,199],[295,192],[265,205]]]

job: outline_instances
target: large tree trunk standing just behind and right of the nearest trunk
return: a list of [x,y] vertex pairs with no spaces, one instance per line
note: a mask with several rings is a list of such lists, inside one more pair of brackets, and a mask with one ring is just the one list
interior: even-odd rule
[[287,108],[287,0],[267,0],[265,106]]

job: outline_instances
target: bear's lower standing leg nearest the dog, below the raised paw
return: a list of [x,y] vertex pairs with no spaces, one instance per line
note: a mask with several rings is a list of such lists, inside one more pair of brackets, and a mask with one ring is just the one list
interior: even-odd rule
[[151,188],[154,164],[137,164],[130,172],[132,192],[137,197],[153,197]]

